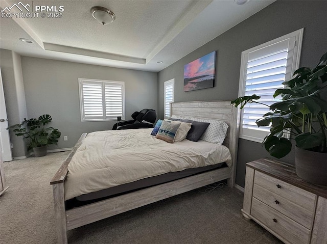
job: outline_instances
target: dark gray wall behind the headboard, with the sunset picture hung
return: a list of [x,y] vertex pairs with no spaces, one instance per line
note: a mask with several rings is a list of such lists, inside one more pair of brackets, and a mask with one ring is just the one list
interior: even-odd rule
[[[327,1],[276,1],[158,73],[158,117],[164,117],[164,82],[175,78],[175,101],[238,97],[241,52],[305,28],[300,66],[315,66],[327,51]],[[219,24],[219,23],[217,23]],[[215,87],[183,91],[185,64],[217,50]],[[240,139],[236,183],[244,186],[245,164],[271,157],[260,143]],[[294,163],[294,152],[281,159]]]

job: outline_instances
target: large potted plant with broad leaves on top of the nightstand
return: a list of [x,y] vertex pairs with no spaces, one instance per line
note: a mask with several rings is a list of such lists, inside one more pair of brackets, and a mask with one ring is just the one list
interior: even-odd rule
[[[269,106],[269,113],[256,120],[260,126],[271,126],[263,141],[270,155],[282,158],[295,141],[295,167],[297,175],[311,183],[327,185],[327,52],[318,65],[311,69],[302,67],[294,72],[294,78],[284,82],[285,89],[277,89],[274,97],[282,101]],[[260,96],[239,97],[231,104],[261,103]],[[285,133],[289,137],[283,137]]]

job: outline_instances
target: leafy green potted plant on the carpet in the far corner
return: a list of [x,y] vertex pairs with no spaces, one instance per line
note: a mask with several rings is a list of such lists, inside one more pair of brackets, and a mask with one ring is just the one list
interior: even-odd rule
[[22,136],[27,142],[28,150],[33,149],[36,157],[46,155],[46,146],[58,143],[61,132],[53,127],[45,127],[50,123],[50,115],[41,115],[38,119],[24,119],[21,124],[10,126],[17,137]]

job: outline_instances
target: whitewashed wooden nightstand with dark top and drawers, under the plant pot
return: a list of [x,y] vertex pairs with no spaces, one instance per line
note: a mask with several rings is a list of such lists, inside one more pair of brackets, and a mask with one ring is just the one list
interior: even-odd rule
[[298,178],[271,159],[246,164],[242,213],[291,244],[327,244],[327,187]]

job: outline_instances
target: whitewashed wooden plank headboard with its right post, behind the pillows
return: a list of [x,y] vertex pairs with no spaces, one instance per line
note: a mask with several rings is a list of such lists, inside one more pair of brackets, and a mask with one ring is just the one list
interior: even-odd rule
[[172,102],[170,113],[181,117],[222,120],[228,124],[227,136],[223,145],[229,148],[233,168],[232,182],[235,184],[237,151],[239,143],[240,110],[230,104],[230,101],[190,101]]

